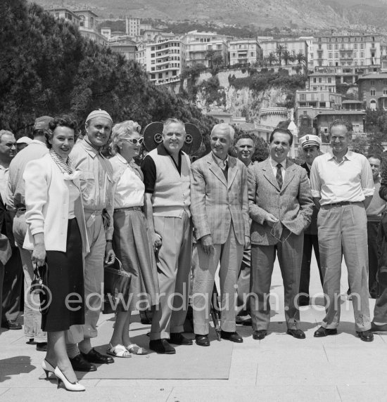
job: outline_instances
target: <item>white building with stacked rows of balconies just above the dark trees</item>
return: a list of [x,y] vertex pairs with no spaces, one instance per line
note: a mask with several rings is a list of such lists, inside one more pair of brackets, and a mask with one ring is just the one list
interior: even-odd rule
[[179,79],[182,72],[183,44],[178,39],[162,39],[156,43],[141,43],[136,60],[151,81],[158,84]]

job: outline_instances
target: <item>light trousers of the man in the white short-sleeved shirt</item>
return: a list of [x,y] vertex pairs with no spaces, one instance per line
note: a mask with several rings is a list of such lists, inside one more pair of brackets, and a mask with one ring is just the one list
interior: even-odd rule
[[367,216],[362,202],[323,205],[317,218],[319,251],[324,276],[326,316],[322,327],[334,329],[340,322],[341,252],[348,269],[355,330],[371,328],[368,300]]

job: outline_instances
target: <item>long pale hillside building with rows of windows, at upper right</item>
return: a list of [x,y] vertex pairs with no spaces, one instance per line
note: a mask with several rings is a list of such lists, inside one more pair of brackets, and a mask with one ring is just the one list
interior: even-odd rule
[[[381,64],[378,35],[325,35],[313,42],[314,67],[374,67]],[[376,71],[375,70],[375,71]]]

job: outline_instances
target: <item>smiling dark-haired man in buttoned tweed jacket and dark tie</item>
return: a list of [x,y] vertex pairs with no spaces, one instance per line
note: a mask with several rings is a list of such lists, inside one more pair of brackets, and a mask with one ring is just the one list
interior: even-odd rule
[[304,339],[299,328],[298,289],[303,231],[312,216],[312,193],[305,169],[287,158],[293,136],[287,129],[270,134],[270,156],[248,171],[251,225],[253,338],[264,339],[270,322],[269,292],[276,251],[284,280],[288,335]]

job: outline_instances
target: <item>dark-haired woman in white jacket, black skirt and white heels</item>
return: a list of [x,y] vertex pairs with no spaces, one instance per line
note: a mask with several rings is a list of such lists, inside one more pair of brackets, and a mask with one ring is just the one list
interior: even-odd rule
[[42,367],[47,378],[54,372],[58,387],[63,381],[69,391],[84,391],[65,347],[65,330],[84,324],[82,252],[89,249],[78,172],[68,158],[77,124],[56,117],[49,127],[49,154],[29,162],[23,174],[28,225],[23,247],[33,250],[34,266],[47,263],[41,309],[48,345]]

